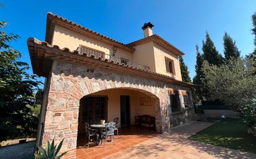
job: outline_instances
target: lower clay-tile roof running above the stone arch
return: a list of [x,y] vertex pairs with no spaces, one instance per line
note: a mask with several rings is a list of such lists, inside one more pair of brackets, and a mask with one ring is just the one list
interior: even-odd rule
[[[173,79],[167,75],[163,74],[158,74],[156,72],[152,71],[146,71],[144,69],[139,69],[137,67],[132,67],[129,65],[121,64],[119,62],[115,61],[109,61],[109,59],[105,59],[102,57],[96,57],[93,55],[88,55],[88,54],[80,54],[77,50],[75,51],[70,51],[68,48],[60,48],[57,45],[49,45],[45,41],[40,41],[35,38],[29,38],[27,40],[27,46],[29,48],[29,54],[30,54],[30,59],[32,63],[32,69],[34,74],[38,75],[43,75],[43,77],[47,77],[48,72],[45,72],[45,69],[43,65],[45,65],[43,62],[45,58],[53,58],[53,59],[68,59],[68,61],[76,61],[77,62],[85,62],[85,59],[89,60],[94,60],[98,62],[98,66],[104,67],[103,64],[111,64],[110,66],[113,66],[113,69],[120,69],[121,72],[126,72],[130,74],[136,74],[140,76],[146,76],[150,77],[153,79],[158,79],[158,80],[164,80],[166,82],[171,82],[173,84],[179,84],[179,85],[184,85],[186,87],[192,87],[193,84],[182,82],[180,80]],[[47,56],[45,56],[47,54]],[[84,58],[82,60],[81,58]],[[92,62],[86,62],[86,64],[92,64]],[[96,64],[96,63],[94,63]],[[108,65],[109,66],[109,65]],[[111,67],[105,67],[105,69],[111,69]],[[124,70],[125,69],[125,70]]]

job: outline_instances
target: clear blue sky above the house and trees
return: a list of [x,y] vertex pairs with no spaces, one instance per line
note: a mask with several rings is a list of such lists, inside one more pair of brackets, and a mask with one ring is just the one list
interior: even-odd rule
[[[251,15],[256,1],[1,1],[0,20],[9,23],[7,33],[21,36],[11,46],[22,52],[30,64],[27,38],[45,39],[47,12],[58,14],[80,25],[123,43],[143,38],[141,29],[152,22],[157,33],[185,53],[183,58],[194,76],[196,44],[201,49],[206,30],[223,54],[222,37],[229,33],[242,55],[254,49]],[[32,69],[29,70],[32,74]],[[41,78],[43,80],[43,78]]]

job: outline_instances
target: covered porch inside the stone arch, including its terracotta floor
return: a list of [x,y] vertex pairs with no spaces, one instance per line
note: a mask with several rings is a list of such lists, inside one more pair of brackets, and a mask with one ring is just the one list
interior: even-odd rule
[[[157,115],[158,101],[150,92],[131,88],[101,90],[81,98],[76,158],[104,158],[155,137],[155,123],[151,126],[138,124],[135,117],[147,114],[154,119]],[[88,148],[85,122],[91,126],[99,124],[102,119],[111,122],[114,118],[120,119],[119,137],[115,131],[115,142],[107,142],[106,148],[104,141],[100,145],[90,142]]]

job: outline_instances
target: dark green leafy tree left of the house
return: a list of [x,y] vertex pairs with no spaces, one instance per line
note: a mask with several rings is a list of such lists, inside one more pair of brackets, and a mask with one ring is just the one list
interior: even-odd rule
[[[0,21],[0,29],[6,24]],[[37,129],[29,106],[36,106],[33,92],[40,82],[26,72],[29,65],[19,61],[21,53],[9,46],[17,38],[19,35],[0,30],[0,141],[24,137]]]

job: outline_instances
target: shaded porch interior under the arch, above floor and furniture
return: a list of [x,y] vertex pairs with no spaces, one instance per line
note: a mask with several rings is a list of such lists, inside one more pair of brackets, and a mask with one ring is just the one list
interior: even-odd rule
[[[86,142],[85,122],[97,124],[101,119],[109,122],[119,118],[121,129],[132,129],[136,124],[135,116],[147,114],[157,118],[157,110],[159,110],[159,98],[137,88],[111,88],[86,95],[80,100],[77,145]],[[157,124],[158,122],[155,122],[155,127],[150,126],[147,130],[156,132]],[[131,129],[130,133],[140,133]]]

